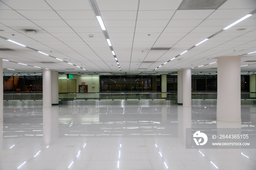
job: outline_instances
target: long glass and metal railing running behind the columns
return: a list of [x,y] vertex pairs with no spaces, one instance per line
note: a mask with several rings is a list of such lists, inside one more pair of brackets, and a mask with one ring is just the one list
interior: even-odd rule
[[[217,100],[217,92],[191,92],[192,100]],[[40,101],[42,92],[4,93],[4,101]],[[177,100],[177,92],[59,93],[59,100]],[[241,100],[256,100],[255,92],[241,92]]]

